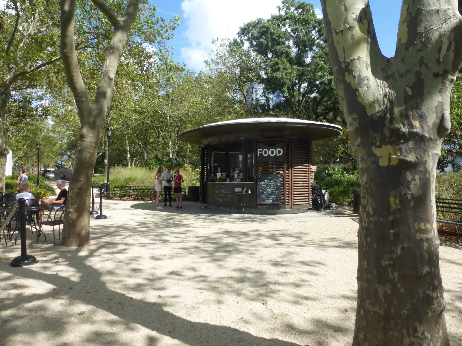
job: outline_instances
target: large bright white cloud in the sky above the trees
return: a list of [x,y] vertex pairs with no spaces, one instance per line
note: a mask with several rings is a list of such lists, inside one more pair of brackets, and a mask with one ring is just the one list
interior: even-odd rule
[[190,46],[181,49],[182,59],[188,67],[200,70],[212,49],[212,38],[235,37],[243,24],[269,18],[280,5],[280,0],[183,0],[184,36]]

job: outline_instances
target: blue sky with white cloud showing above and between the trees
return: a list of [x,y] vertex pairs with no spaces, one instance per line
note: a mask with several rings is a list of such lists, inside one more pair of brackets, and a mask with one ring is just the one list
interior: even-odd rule
[[[232,38],[239,27],[255,18],[268,18],[276,13],[280,0],[150,0],[157,6],[157,15],[171,18],[177,14],[180,26],[169,46],[174,47],[175,60],[199,71],[212,49],[212,38]],[[310,1],[321,15],[319,0]],[[401,0],[370,1],[374,25],[382,53],[395,54],[396,33]]]

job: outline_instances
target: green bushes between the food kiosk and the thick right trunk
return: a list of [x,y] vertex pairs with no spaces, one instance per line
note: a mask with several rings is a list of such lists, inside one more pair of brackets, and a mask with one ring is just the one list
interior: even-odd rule
[[353,189],[359,188],[359,172],[349,166],[318,166],[315,184],[329,191],[329,202],[351,203]]

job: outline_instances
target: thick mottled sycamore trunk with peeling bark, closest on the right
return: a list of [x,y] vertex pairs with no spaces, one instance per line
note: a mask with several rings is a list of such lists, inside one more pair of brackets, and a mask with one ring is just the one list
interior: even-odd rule
[[367,0],[321,3],[361,180],[353,345],[449,345],[435,176],[462,63],[456,1],[403,0],[393,58]]

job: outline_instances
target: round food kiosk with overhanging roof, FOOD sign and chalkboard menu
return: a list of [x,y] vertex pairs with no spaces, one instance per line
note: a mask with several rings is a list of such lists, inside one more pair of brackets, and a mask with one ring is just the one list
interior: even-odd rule
[[311,142],[340,131],[315,121],[254,118],[197,127],[179,138],[201,147],[201,203],[216,210],[290,214],[311,208]]

